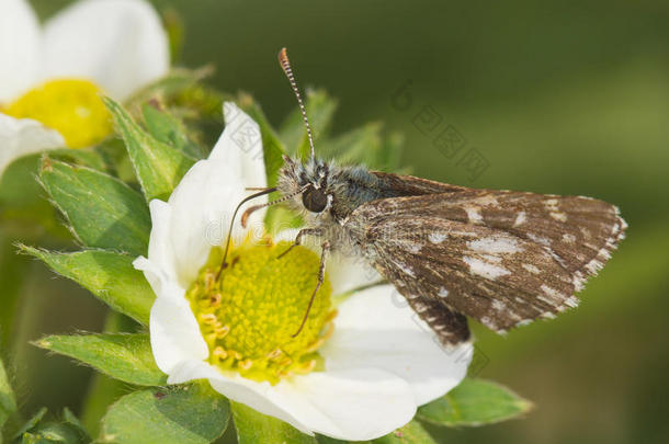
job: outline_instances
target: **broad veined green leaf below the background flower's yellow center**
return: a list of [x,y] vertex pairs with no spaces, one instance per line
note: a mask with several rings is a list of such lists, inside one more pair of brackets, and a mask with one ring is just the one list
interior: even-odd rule
[[120,180],[44,157],[39,180],[83,244],[145,254],[151,220],[141,196]]

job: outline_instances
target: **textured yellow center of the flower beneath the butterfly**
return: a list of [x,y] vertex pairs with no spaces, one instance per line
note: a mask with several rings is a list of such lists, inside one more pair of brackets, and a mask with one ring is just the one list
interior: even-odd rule
[[324,282],[302,332],[293,338],[316,288],[319,258],[303,247],[277,258],[288,247],[243,243],[231,251],[218,280],[220,249],[212,250],[186,292],[211,364],[271,384],[322,367],[318,348],[332,332],[336,316],[331,286]]

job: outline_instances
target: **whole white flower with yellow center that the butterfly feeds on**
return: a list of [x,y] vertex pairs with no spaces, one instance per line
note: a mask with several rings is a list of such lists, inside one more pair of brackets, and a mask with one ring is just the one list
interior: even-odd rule
[[[389,285],[340,298],[334,309],[332,288],[361,283],[360,264],[347,266],[341,258],[330,261],[332,283],[324,284],[304,330],[292,338],[319,258],[298,247],[277,259],[288,242],[276,239],[236,241],[217,280],[220,249],[212,243],[227,228],[212,241],[211,227],[227,227],[222,221],[229,223],[245,187],[267,185],[258,125],[230,103],[224,114],[209,158],[192,167],[168,202],[150,202],[148,259],[134,265],[157,295],[156,363],[169,384],[206,378],[229,399],[305,433],[361,441],[404,425],[418,406],[462,380],[472,345],[442,350]],[[251,227],[261,212],[253,217]]]

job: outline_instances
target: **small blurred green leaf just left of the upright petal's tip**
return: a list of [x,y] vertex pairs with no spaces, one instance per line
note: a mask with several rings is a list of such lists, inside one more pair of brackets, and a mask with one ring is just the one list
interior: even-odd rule
[[192,158],[203,158],[202,148],[189,138],[183,122],[174,115],[166,110],[158,110],[149,103],[143,104],[141,113],[149,134],[157,140],[183,151]]

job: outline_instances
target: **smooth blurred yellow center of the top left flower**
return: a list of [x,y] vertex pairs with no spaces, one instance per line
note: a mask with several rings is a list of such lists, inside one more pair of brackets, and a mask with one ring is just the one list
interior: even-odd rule
[[56,129],[70,148],[95,145],[112,133],[102,91],[88,80],[50,80],[2,110],[16,118],[32,118]]

